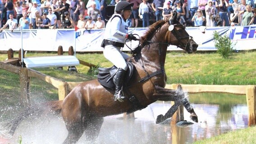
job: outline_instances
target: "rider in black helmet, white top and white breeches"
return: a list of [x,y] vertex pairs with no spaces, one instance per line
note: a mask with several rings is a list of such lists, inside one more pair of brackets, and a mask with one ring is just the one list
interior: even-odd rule
[[125,98],[122,92],[124,74],[128,68],[125,59],[129,56],[123,53],[120,49],[124,46],[126,39],[137,40],[133,34],[128,34],[128,24],[126,20],[132,14],[133,3],[121,1],[116,5],[115,14],[109,19],[105,28],[105,40],[102,42],[102,47],[105,47],[103,54],[117,68],[117,78],[115,80],[114,100],[123,102]]

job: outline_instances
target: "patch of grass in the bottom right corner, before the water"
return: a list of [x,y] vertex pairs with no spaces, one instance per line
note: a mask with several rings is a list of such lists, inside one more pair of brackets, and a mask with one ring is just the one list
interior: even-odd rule
[[193,144],[256,144],[256,126],[235,130]]

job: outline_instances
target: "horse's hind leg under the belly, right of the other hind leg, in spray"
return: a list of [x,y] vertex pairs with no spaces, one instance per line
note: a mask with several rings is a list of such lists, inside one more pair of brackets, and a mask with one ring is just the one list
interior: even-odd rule
[[94,142],[100,133],[103,121],[103,117],[92,117],[87,121],[87,127],[85,130],[87,140]]

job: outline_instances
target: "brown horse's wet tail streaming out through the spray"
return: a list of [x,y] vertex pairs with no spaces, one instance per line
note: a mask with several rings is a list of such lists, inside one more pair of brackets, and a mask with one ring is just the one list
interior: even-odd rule
[[27,107],[21,115],[0,126],[0,137],[7,139],[11,138],[19,124],[27,117],[33,115],[40,116],[49,112],[59,114],[61,112],[62,103],[63,100],[50,101]]

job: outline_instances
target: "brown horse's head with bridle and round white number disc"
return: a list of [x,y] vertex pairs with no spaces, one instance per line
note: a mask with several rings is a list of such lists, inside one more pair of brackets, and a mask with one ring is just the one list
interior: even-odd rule
[[181,49],[187,51],[191,54],[197,51],[197,43],[193,40],[192,36],[189,36],[185,27],[179,23],[177,20],[177,12],[173,12],[173,17],[171,18],[168,26],[168,30],[165,35],[165,40],[171,45],[176,45]]

